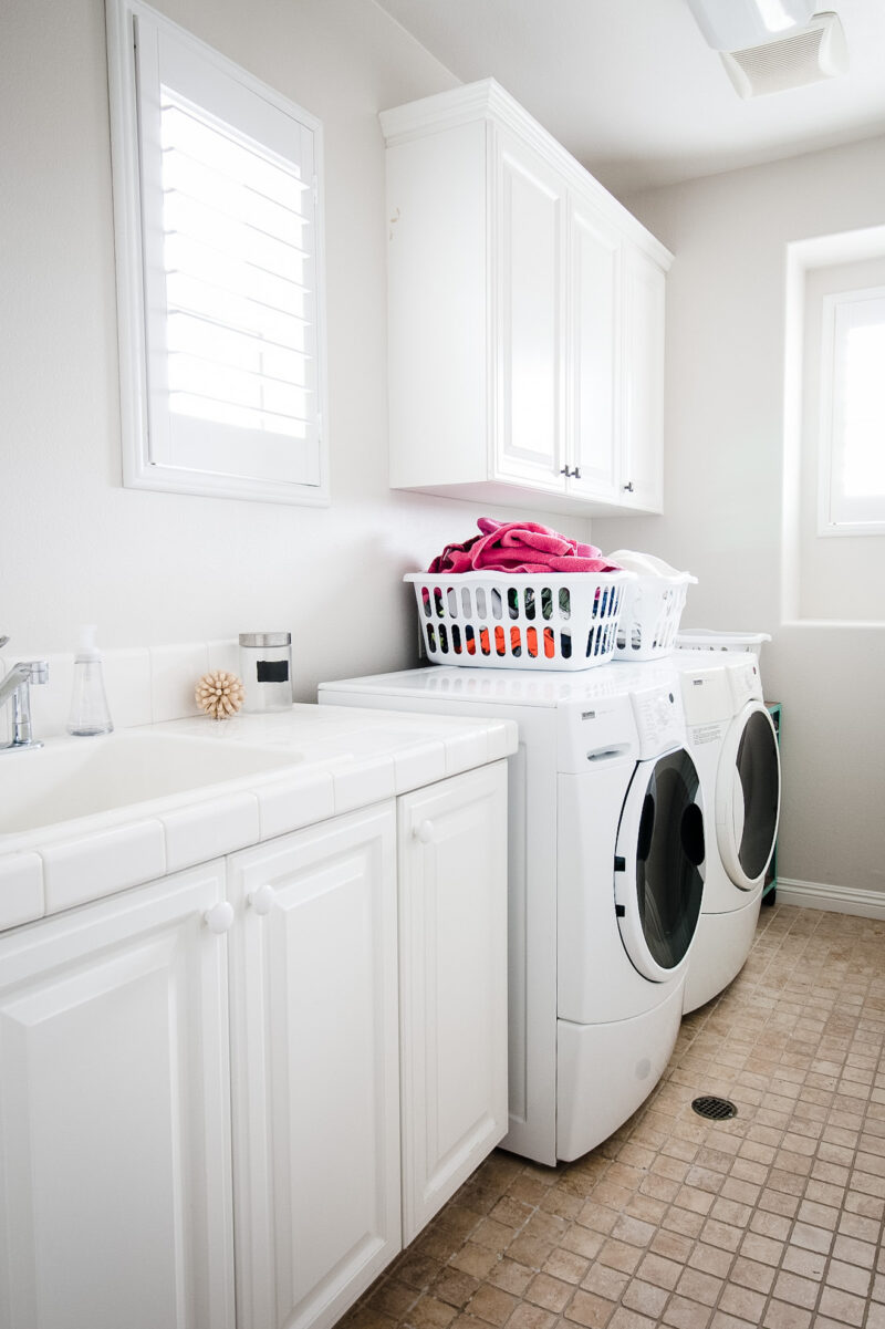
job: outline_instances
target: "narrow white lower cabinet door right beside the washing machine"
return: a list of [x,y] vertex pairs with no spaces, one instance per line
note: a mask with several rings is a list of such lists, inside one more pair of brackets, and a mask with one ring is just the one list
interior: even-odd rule
[[403,1240],[508,1128],[506,763],[399,800]]

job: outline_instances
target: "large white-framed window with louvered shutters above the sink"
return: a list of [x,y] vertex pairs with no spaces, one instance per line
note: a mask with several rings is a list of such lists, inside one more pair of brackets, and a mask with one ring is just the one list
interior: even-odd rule
[[326,502],[320,125],[136,0],[109,39],[125,482]]

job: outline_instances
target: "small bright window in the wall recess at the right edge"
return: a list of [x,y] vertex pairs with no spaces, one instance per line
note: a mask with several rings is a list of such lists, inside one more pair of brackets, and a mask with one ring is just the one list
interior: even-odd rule
[[885,532],[885,287],[823,300],[821,534]]

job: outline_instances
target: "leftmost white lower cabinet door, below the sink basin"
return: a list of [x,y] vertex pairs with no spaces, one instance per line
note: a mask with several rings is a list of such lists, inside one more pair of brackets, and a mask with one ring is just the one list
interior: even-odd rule
[[0,937],[3,1329],[233,1329],[223,892],[207,864]]

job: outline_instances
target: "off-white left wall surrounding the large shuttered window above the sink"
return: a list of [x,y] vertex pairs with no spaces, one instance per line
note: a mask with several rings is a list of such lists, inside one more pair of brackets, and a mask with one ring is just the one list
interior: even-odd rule
[[[312,700],[322,678],[415,663],[401,574],[482,510],[387,484],[377,112],[457,80],[371,0],[158,8],[324,124],[332,506],[121,488],[104,5],[8,4],[0,633],[8,653],[48,653],[70,650],[81,622],[106,647],[291,629],[296,696]],[[587,537],[586,522],[549,521]]]

